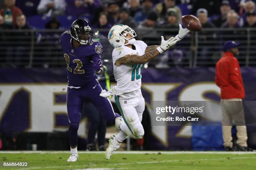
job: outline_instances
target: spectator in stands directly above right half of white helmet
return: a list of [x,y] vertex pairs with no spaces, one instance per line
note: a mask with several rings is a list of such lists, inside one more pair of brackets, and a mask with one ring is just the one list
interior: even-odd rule
[[130,16],[129,9],[124,7],[120,10],[120,21],[118,23],[128,25],[132,29],[137,27],[135,20],[133,20],[133,18]]

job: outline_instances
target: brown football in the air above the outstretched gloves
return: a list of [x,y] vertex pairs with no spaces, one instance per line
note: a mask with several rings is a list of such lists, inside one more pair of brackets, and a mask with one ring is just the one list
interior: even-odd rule
[[190,31],[200,31],[202,30],[202,24],[198,18],[193,15],[182,16],[183,25]]

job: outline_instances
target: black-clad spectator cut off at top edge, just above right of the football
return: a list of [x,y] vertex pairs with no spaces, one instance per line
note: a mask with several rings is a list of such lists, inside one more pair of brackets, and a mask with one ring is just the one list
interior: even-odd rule
[[199,8],[205,8],[208,11],[208,16],[220,14],[219,0],[195,0],[192,4],[191,14],[196,14]]

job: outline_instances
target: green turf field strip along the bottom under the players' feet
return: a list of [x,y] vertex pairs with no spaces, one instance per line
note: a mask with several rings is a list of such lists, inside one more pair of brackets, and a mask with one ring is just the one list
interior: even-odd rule
[[[110,160],[104,153],[80,152],[67,163],[69,152],[0,152],[0,170],[256,170],[256,153],[224,152],[116,152]],[[3,167],[3,162],[28,162],[27,167]]]

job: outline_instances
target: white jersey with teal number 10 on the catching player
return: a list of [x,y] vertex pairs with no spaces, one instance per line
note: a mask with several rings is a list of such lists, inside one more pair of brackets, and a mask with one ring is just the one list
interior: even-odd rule
[[[117,94],[124,94],[126,97],[134,97],[138,95],[138,92],[141,92],[141,70],[144,64],[133,64],[133,65],[120,65],[116,66],[115,62],[125,56],[136,54],[141,56],[145,54],[146,43],[143,41],[136,40],[133,44],[136,47],[136,50],[133,50],[130,47],[122,45],[113,50],[113,65],[114,65],[114,76],[117,81]],[[131,93],[132,92],[132,93]]]

